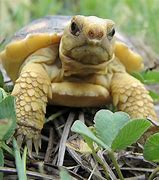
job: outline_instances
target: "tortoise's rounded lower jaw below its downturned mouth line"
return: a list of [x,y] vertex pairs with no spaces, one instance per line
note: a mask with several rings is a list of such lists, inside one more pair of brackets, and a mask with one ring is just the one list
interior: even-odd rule
[[82,64],[97,65],[111,59],[107,50],[97,45],[82,45],[72,48],[68,56]]

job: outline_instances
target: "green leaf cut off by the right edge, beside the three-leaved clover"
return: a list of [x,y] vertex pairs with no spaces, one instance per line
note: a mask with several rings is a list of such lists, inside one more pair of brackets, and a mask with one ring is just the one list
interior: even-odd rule
[[159,133],[150,136],[144,145],[144,158],[148,161],[159,162]]

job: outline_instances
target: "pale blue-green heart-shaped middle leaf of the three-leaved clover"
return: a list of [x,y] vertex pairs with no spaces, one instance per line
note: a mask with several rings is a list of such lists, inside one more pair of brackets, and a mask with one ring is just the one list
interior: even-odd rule
[[119,130],[129,121],[129,115],[124,112],[112,113],[109,110],[100,110],[94,119],[98,137],[111,147]]

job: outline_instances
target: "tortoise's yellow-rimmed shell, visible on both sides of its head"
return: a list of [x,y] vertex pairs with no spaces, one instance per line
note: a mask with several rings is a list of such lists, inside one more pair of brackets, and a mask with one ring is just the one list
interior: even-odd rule
[[[46,16],[32,21],[15,33],[0,53],[2,64],[9,77],[15,81],[25,59],[36,50],[59,44],[64,28],[71,19],[71,16]],[[141,56],[121,42],[117,41],[115,44],[115,55],[128,72],[143,69]]]

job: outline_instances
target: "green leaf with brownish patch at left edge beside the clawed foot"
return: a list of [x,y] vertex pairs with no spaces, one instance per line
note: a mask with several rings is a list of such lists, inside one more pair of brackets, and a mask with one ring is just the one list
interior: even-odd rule
[[15,98],[8,96],[0,102],[0,140],[9,139],[16,128]]

